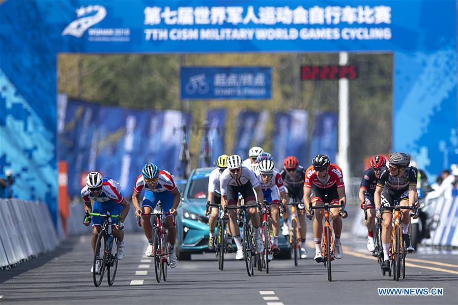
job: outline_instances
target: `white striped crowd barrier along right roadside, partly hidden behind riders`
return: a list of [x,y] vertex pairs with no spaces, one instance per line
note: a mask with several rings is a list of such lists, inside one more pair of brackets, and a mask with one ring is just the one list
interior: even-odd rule
[[[458,196],[439,197],[431,200],[424,209],[429,215],[439,215],[439,225],[431,232],[431,238],[423,239],[425,246],[458,247]],[[359,209],[353,221],[352,233],[367,236],[364,225],[364,212]]]

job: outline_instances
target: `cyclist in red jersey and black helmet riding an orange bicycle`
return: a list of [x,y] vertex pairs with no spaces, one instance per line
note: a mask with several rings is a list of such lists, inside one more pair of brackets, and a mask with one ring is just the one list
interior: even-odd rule
[[[311,194],[311,196],[310,196]],[[307,168],[305,179],[304,179],[304,204],[306,208],[307,217],[311,219],[311,216],[315,214],[313,221],[313,241],[315,242],[315,257],[314,260],[317,262],[323,262],[321,257],[321,236],[323,235],[323,210],[317,210],[313,213],[313,210],[309,210],[310,197],[311,202],[314,206],[322,206],[324,204],[324,198],[328,197],[327,201],[330,204],[339,204],[340,201],[344,201],[344,205],[347,202],[345,195],[344,177],[342,170],[335,164],[332,164],[329,157],[326,155],[317,155],[312,160],[312,165]],[[334,257],[341,259],[344,256],[342,252],[342,245],[340,243],[340,234],[342,232],[342,220],[340,217],[339,208],[330,209],[332,215],[332,227],[334,229]]]

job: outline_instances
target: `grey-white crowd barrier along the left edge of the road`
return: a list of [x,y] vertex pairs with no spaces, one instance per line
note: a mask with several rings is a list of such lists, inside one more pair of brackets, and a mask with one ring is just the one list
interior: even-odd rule
[[0,199],[0,267],[52,251],[59,242],[45,203]]

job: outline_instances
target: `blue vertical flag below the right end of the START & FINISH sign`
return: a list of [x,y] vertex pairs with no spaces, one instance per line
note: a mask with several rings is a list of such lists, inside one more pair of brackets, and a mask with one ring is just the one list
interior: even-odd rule
[[234,154],[242,157],[242,160],[248,158],[248,150],[253,141],[253,131],[258,118],[259,112],[252,110],[245,110],[237,115],[236,139],[239,141],[234,144]]

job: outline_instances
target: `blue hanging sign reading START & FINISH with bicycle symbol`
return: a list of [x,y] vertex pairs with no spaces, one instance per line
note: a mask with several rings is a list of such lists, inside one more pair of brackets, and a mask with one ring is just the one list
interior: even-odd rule
[[181,67],[181,99],[270,99],[268,67]]

